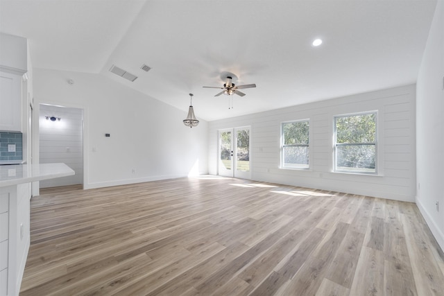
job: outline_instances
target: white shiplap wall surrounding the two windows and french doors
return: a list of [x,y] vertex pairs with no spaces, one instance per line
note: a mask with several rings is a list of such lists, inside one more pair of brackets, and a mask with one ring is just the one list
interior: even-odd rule
[[[413,202],[416,194],[415,87],[395,87],[212,121],[209,173],[218,173],[217,131],[250,125],[252,180]],[[248,100],[253,103],[254,98]],[[377,111],[378,175],[333,173],[334,116],[368,111]],[[280,124],[300,119],[310,121],[310,169],[281,169]]]

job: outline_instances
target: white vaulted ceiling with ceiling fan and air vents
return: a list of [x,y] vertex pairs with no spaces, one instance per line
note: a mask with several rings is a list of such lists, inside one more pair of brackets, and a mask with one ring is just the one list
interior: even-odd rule
[[[33,67],[100,73],[207,121],[416,82],[436,0],[0,0]],[[311,46],[316,38],[323,44]],[[138,76],[130,82],[115,64]],[[151,71],[140,67],[147,64]],[[226,73],[246,96],[214,97]]]

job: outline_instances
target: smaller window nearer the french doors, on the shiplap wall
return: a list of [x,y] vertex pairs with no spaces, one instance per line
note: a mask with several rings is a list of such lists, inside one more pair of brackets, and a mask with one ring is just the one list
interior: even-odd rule
[[309,121],[282,123],[282,168],[309,168]]

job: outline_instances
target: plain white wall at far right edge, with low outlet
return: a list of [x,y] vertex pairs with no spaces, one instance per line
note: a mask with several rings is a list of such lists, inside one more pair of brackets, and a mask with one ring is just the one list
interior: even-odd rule
[[[416,91],[416,204],[444,250],[444,2],[438,1]],[[439,207],[436,207],[438,202]],[[439,211],[438,211],[439,210]]]

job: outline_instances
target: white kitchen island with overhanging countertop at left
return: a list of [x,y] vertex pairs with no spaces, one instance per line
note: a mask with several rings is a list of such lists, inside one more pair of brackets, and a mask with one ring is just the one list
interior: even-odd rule
[[66,164],[0,166],[0,296],[19,295],[30,245],[31,182],[74,175]]

